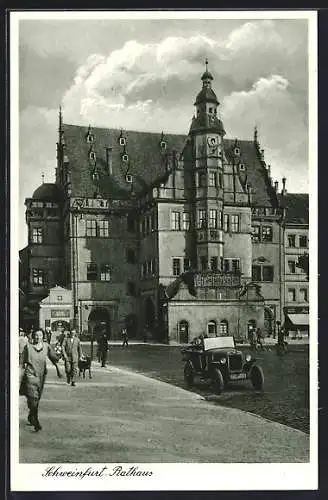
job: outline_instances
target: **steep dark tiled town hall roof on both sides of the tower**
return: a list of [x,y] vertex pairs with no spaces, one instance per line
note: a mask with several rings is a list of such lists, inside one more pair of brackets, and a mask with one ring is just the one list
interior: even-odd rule
[[[165,153],[161,152],[161,134],[152,132],[124,131],[126,146],[119,144],[120,130],[92,128],[92,143],[87,142],[88,127],[63,125],[66,144],[65,154],[68,157],[71,171],[72,196],[93,197],[97,188],[99,194],[108,199],[129,198],[131,184],[126,182],[126,175],[133,176],[133,190],[136,193],[159,182],[167,174],[165,153],[175,150],[181,153],[186,135],[165,134],[167,143]],[[235,140],[224,139],[227,159],[232,161]],[[112,148],[112,175],[108,175],[106,164],[106,148]],[[245,164],[247,182],[252,186],[253,203],[257,206],[276,206],[277,198],[272,188],[267,171],[263,166],[253,141],[238,141],[240,161]],[[96,154],[96,170],[98,180],[93,180],[94,166],[89,159],[89,151]],[[122,162],[121,155],[126,152],[129,161]]]

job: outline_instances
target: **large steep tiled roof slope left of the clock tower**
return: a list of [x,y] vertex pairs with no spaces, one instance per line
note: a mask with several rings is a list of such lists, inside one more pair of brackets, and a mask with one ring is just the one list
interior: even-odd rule
[[[91,128],[94,142],[88,143],[88,127],[63,124],[65,154],[71,170],[72,196],[93,197],[98,189],[104,198],[124,199],[131,196],[131,184],[126,175],[133,176],[133,191],[138,193],[147,189],[156,179],[165,174],[165,155],[161,153],[160,133],[123,131],[126,146],[119,144],[121,131],[118,129]],[[166,152],[181,152],[185,135],[165,134]],[[95,168],[99,180],[92,179],[93,166],[89,151],[96,154]],[[106,149],[112,148],[112,174],[107,171]],[[122,161],[122,154],[128,155],[128,162]]]

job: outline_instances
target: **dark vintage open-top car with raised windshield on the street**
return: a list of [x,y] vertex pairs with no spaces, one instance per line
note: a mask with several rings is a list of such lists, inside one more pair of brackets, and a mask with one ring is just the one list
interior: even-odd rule
[[195,377],[210,380],[216,394],[230,382],[250,380],[255,390],[262,390],[262,368],[251,354],[236,349],[233,337],[204,338],[181,349],[185,361],[184,379],[190,387]]

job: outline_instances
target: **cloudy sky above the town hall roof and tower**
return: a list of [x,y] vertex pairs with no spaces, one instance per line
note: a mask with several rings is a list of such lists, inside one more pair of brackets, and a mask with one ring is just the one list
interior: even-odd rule
[[274,180],[308,192],[307,21],[20,20],[19,211],[54,181],[65,123],[188,133],[204,60],[227,138],[258,128]]

